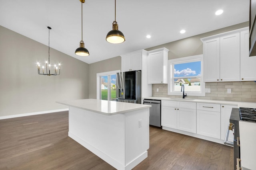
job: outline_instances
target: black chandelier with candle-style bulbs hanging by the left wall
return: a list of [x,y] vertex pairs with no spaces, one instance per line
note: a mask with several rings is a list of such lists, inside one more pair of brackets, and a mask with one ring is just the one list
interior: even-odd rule
[[[43,73],[40,72],[40,63],[37,63],[37,70],[38,70],[38,74],[40,75],[44,75],[44,76],[57,76],[60,75],[60,64],[58,64],[58,66],[56,64],[54,64],[54,74],[51,74],[51,64],[50,64],[50,29],[52,29],[51,27],[47,27],[49,29],[49,37],[48,37],[48,61],[45,62],[46,67],[45,70],[46,72],[44,72],[44,66],[41,66]],[[48,67],[47,67],[47,63],[48,63]],[[58,72],[59,69],[59,72]]]

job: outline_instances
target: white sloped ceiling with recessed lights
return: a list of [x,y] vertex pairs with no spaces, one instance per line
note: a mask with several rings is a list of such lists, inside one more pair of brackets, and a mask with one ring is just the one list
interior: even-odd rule
[[249,21],[249,0],[116,0],[122,44],[105,40],[113,21],[114,0],[86,0],[83,41],[90,56],[80,57],[74,54],[81,41],[80,0],[0,0],[0,25],[47,46],[50,26],[50,47],[88,64]]

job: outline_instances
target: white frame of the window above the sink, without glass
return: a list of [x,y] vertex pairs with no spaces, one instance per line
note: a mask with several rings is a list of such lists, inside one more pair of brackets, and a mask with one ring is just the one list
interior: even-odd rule
[[[200,76],[200,92],[186,92],[187,96],[205,96],[205,82],[203,81],[203,55],[194,55],[189,57],[182,57],[178,59],[168,60],[168,95],[182,96],[182,92],[174,92],[174,64],[190,63],[201,61],[201,76]],[[198,77],[198,76],[190,76]]]

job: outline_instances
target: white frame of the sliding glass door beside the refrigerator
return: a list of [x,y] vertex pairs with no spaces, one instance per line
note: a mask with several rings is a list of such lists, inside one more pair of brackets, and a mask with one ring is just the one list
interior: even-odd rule
[[[96,92],[96,97],[97,97],[97,99],[99,100],[100,99],[100,96],[101,96],[101,88],[100,88],[100,77],[101,76],[108,76],[108,87],[110,87],[111,86],[111,81],[109,81],[109,79],[110,79],[110,76],[111,75],[113,75],[113,74],[116,74],[116,73],[118,73],[118,72],[120,72],[120,70],[114,70],[114,71],[108,71],[108,72],[100,72],[100,73],[97,73],[96,74],[96,82],[97,82],[97,92]],[[108,101],[111,101],[111,91],[110,91],[111,89],[110,88],[108,88]]]

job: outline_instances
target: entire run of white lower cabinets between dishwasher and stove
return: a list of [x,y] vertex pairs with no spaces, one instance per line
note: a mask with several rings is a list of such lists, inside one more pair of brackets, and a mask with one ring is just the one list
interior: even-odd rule
[[[162,100],[163,129],[224,144],[232,108],[236,104],[214,104]],[[228,141],[232,142],[230,131]]]

